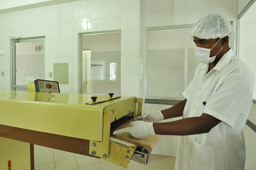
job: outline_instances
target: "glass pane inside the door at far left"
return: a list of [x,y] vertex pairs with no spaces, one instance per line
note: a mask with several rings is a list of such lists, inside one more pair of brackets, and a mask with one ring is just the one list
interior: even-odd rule
[[15,85],[27,85],[27,81],[33,79],[44,80],[44,41],[16,42],[15,46]]

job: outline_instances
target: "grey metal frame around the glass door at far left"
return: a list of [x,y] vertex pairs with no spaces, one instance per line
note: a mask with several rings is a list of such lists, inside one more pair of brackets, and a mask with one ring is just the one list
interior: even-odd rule
[[[10,39],[10,56],[12,58],[12,68],[10,74],[11,81],[11,89],[15,90],[15,88],[28,88],[28,86],[16,85],[16,42],[31,42],[31,41],[44,41],[44,65],[45,65],[45,36],[42,37],[29,37],[29,38],[17,38]],[[45,69],[44,69],[45,73]]]

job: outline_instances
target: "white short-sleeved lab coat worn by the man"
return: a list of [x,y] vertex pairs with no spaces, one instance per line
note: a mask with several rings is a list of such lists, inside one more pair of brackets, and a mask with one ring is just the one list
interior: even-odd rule
[[208,68],[200,63],[185,89],[183,118],[206,113],[221,122],[208,133],[179,137],[175,170],[242,170],[254,75],[232,49],[207,74]]

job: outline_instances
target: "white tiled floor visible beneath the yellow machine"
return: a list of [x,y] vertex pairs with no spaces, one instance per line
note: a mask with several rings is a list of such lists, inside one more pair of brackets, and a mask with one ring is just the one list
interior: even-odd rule
[[35,170],[169,170],[174,169],[175,157],[151,154],[148,164],[130,161],[127,168],[103,159],[45,148],[35,145]]

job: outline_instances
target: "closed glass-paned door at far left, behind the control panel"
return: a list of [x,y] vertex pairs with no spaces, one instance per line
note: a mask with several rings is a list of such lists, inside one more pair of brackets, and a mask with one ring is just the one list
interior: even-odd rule
[[27,83],[45,79],[45,38],[13,39],[13,90],[28,91]]

